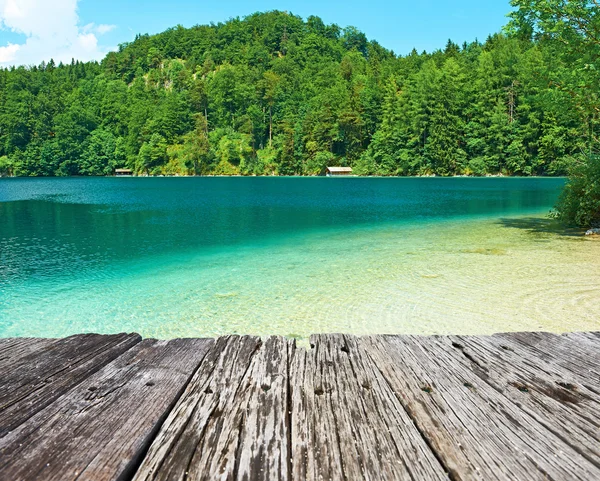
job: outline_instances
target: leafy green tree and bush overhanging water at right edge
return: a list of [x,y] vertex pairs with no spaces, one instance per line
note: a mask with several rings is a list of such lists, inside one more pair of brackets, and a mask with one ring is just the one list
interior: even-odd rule
[[575,99],[586,124],[587,154],[572,168],[557,216],[589,226],[600,222],[600,158],[596,126],[600,114],[600,8],[587,0],[512,0],[510,28],[549,45],[570,69],[561,69],[556,88]]

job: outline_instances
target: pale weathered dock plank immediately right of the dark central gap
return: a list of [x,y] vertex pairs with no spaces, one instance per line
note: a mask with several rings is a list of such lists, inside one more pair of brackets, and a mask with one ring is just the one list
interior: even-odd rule
[[448,479],[353,336],[311,344],[290,380],[294,479]]

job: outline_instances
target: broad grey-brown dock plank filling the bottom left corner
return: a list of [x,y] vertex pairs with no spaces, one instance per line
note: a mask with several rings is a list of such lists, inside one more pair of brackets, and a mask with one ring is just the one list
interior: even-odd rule
[[0,439],[0,479],[124,479],[213,340],[145,340]]

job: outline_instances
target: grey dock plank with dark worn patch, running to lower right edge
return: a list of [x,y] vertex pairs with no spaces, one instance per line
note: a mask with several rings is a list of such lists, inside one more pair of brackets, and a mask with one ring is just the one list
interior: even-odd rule
[[453,354],[454,362],[471,369],[482,382],[600,465],[600,396],[574,382],[569,371],[540,362],[506,338],[451,336],[435,341]]

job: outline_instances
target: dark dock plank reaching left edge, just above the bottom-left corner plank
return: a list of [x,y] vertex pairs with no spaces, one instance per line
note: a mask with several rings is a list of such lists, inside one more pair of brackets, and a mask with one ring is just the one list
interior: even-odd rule
[[3,363],[0,437],[140,342],[138,334],[84,334]]

